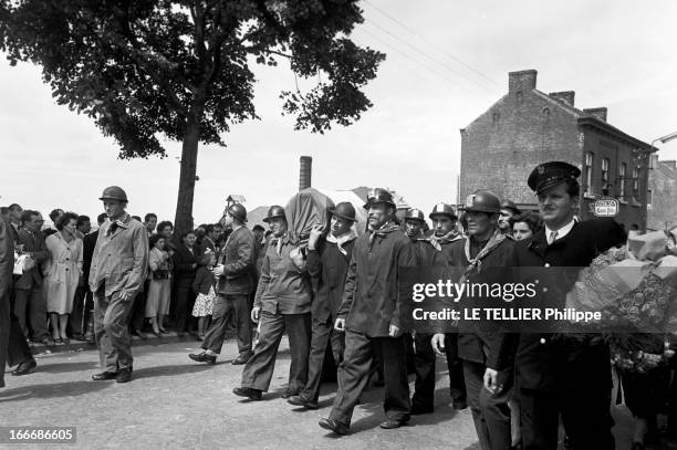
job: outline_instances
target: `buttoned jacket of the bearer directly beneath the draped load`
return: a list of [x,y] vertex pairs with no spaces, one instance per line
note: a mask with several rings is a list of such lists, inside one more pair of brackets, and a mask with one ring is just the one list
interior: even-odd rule
[[254,307],[271,314],[310,313],[312,289],[308,271],[301,271],[289,258],[296,248],[288,236],[282,238],[278,254],[278,238],[271,238],[257,287]]

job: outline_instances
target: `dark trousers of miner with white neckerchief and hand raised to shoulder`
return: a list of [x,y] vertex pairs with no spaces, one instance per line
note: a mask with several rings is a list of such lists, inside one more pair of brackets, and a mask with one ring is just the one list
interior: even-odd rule
[[343,360],[344,333],[334,329],[332,317],[326,321],[313,318],[311,350],[308,358],[308,381],[301,395],[312,401],[317,401],[320,397],[320,384],[322,381],[322,368],[324,366],[324,354],[326,346],[331,343],[332,355],[336,366]]

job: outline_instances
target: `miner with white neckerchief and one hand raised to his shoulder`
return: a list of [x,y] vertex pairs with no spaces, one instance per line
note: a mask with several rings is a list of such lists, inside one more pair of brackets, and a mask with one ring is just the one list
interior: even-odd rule
[[311,308],[312,336],[308,363],[308,381],[298,396],[287,401],[291,405],[317,409],[320,380],[327,343],[331,343],[336,366],[343,360],[344,334],[334,329],[334,322],[345,285],[348,263],[355,247],[353,224],[355,208],[350,202],[336,205],[331,211],[331,228],[325,239],[324,229],[313,227],[308,242],[308,272],[313,282],[315,296]]

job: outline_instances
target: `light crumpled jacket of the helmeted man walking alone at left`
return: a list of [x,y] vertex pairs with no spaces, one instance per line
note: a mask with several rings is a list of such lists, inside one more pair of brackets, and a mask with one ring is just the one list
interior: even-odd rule
[[92,257],[92,292],[105,282],[106,296],[116,292],[135,295],[143,290],[147,274],[148,234],[144,224],[129,214],[122,221],[106,220],[98,229]]

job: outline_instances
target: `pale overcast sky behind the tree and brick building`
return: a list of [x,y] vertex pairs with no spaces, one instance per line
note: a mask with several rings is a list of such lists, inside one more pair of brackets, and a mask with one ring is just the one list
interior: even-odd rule
[[[508,72],[535,69],[543,92],[575,91],[575,105],[608,107],[608,122],[650,143],[677,132],[677,2],[361,2],[353,38],[387,54],[367,87],[374,107],[347,128],[294,132],[278,94],[294,87],[282,61],[259,69],[260,121],[232,127],[227,148],[200,146],[196,223],[220,217],[229,193],[248,209],[298,189],[299,157],[313,156],[313,186],[389,187],[414,207],[456,201],[460,134],[508,90]],[[118,160],[113,139],[54,104],[40,70],[0,61],[0,205],[96,216],[104,187],[119,185],[128,210],[174,220],[180,146],[169,157]],[[677,140],[660,146],[677,158]],[[46,218],[46,217],[45,217]]]

